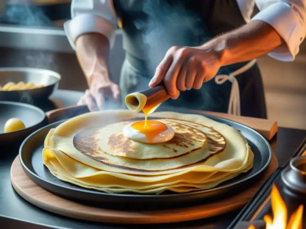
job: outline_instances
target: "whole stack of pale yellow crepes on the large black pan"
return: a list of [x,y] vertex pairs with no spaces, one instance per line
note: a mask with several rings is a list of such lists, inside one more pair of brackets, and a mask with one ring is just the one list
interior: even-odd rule
[[247,172],[254,155],[236,129],[201,115],[156,112],[150,117],[175,130],[166,143],[125,138],[127,110],[77,116],[51,129],[43,163],[58,179],[108,193],[160,194],[210,189]]

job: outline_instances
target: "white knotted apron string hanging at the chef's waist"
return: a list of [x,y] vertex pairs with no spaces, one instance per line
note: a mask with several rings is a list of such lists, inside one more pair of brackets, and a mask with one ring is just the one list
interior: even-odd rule
[[240,116],[240,93],[239,93],[239,85],[236,79],[237,75],[240,75],[246,71],[248,71],[253,65],[256,63],[256,59],[251,60],[248,64],[239,68],[238,70],[230,73],[229,75],[216,75],[215,82],[217,84],[223,84],[226,80],[232,82],[232,88],[230,91],[230,102],[227,113],[230,115],[239,115]]

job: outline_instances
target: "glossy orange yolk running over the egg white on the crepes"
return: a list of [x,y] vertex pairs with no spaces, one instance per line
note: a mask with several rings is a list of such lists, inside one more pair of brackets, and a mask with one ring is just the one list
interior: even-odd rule
[[138,130],[139,133],[144,134],[150,143],[154,141],[156,136],[168,129],[166,124],[155,120],[134,122],[131,127]]

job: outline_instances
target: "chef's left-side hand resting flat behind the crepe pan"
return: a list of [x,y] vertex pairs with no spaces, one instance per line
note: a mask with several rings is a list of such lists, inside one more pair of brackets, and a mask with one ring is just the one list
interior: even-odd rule
[[101,76],[92,80],[90,88],[85,91],[77,105],[87,105],[90,111],[99,111],[107,104],[118,103],[121,98],[119,85],[105,78]]

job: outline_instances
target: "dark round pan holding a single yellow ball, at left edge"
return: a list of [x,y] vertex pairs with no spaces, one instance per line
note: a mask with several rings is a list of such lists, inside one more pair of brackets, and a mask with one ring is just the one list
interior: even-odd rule
[[[19,118],[26,128],[4,133],[4,125],[10,118]],[[47,124],[45,112],[38,107],[24,103],[0,101],[0,145],[2,147],[21,144],[29,134]]]

